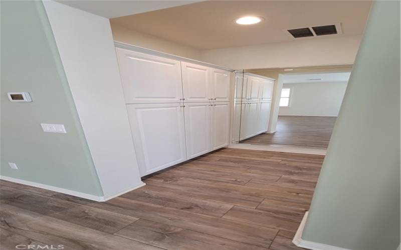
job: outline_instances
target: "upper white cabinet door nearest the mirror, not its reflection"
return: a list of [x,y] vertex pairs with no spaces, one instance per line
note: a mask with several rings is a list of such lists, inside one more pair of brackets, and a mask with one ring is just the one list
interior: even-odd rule
[[215,101],[230,100],[230,78],[230,71],[212,68],[212,98]]

